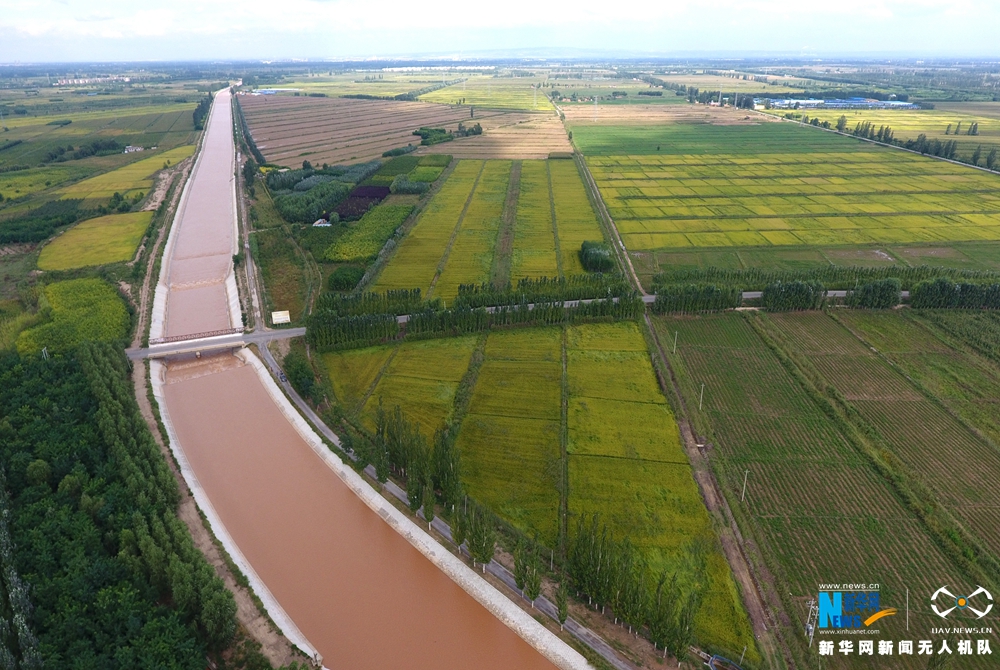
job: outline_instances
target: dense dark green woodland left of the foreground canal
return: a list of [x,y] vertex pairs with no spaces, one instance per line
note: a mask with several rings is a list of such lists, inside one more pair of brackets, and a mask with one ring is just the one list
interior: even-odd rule
[[0,360],[17,568],[49,667],[201,670],[236,606],[176,516],[177,484],[110,345]]

